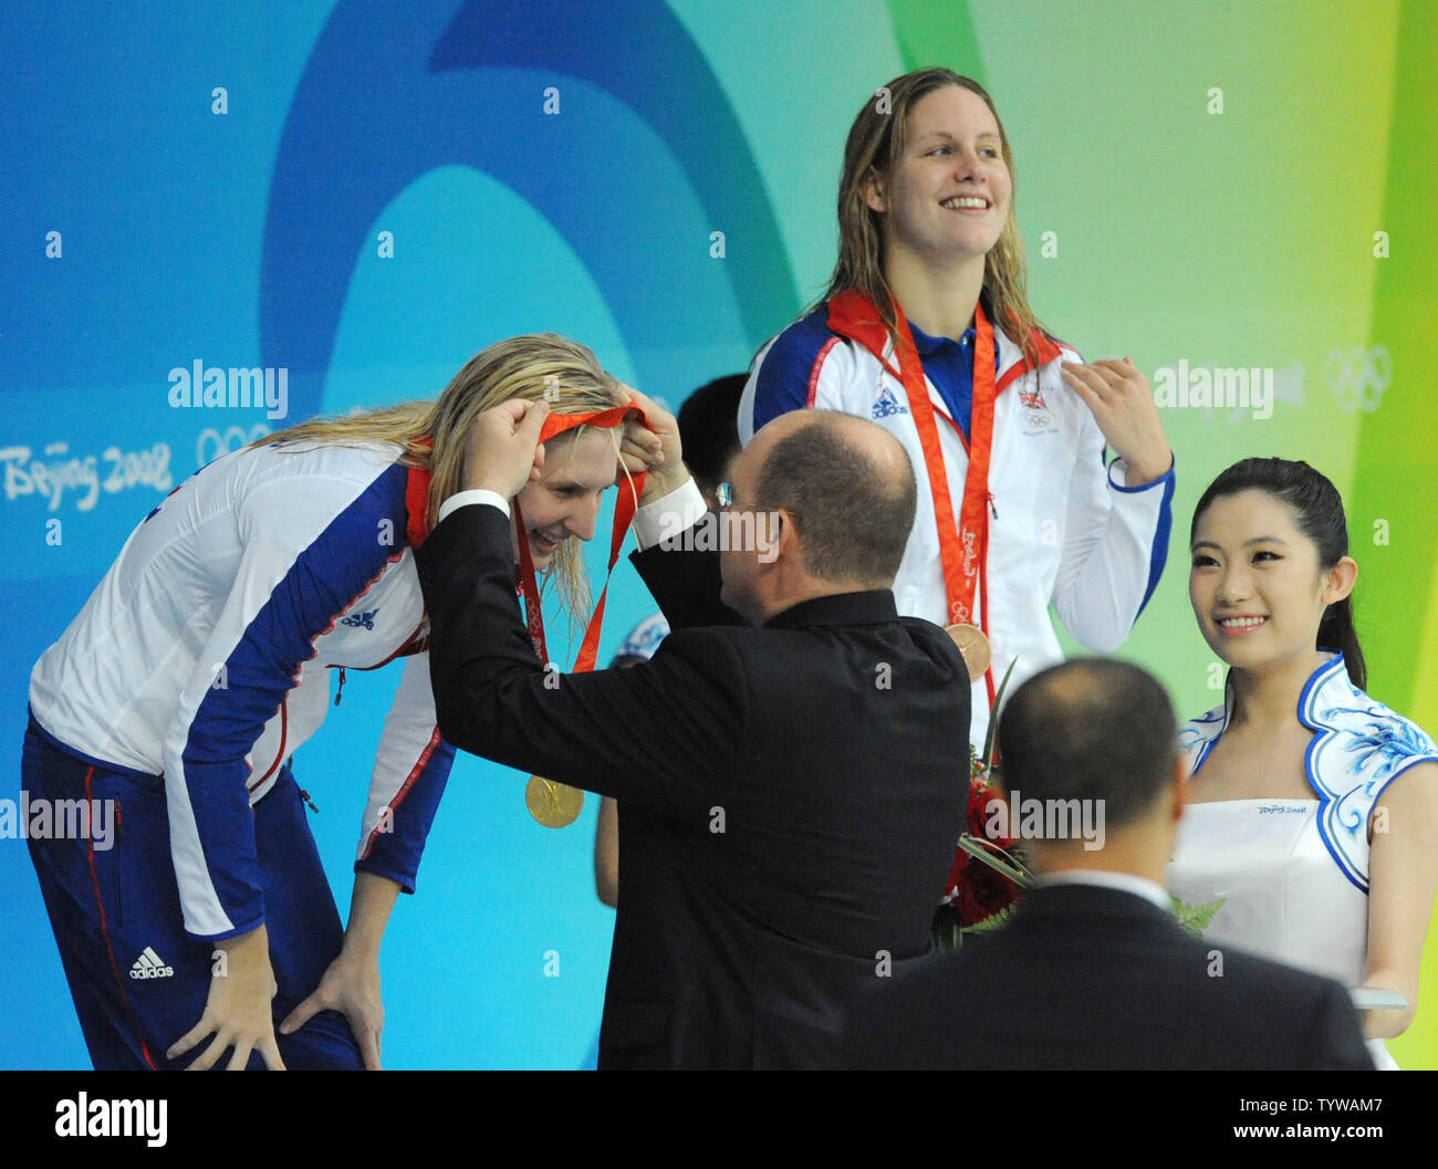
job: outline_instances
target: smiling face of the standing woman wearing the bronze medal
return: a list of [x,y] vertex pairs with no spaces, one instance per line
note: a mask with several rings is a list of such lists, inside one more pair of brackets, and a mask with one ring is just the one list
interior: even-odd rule
[[978,93],[935,89],[909,114],[905,145],[874,174],[869,206],[884,216],[884,249],[930,262],[985,256],[1008,221],[1012,181],[998,121]]

